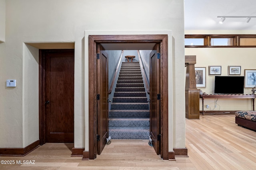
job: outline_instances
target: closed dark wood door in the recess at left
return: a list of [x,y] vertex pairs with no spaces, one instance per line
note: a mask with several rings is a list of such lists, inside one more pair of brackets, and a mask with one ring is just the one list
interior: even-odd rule
[[46,142],[74,143],[74,50],[45,50]]

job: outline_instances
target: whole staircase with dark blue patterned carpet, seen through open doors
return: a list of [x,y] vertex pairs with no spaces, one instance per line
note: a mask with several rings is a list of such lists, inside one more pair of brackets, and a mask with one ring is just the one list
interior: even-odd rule
[[149,139],[149,104],[139,62],[123,62],[109,111],[111,139]]

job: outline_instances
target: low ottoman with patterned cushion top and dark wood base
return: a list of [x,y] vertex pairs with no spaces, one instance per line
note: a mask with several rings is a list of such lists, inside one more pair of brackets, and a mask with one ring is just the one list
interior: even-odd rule
[[256,111],[236,111],[236,124],[256,131]]

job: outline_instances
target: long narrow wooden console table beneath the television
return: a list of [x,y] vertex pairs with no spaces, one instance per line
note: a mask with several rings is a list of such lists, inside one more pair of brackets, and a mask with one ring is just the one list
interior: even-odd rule
[[204,115],[204,99],[206,98],[238,98],[238,99],[252,99],[252,106],[254,110],[254,99],[256,98],[256,94],[201,94],[200,98],[202,98],[202,113]]

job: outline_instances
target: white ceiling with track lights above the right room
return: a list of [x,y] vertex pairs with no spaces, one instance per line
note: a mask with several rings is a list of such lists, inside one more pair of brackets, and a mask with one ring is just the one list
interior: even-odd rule
[[256,0],[184,0],[185,30],[256,30],[256,18],[226,18],[220,24],[217,16],[256,16]]

